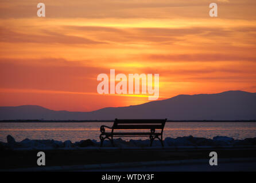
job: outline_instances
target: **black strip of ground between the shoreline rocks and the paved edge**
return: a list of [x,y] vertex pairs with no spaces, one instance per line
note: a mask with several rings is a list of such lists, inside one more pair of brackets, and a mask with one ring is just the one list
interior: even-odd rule
[[[171,161],[210,159],[210,152],[218,153],[219,158],[256,158],[256,147],[218,148],[91,148],[91,149],[52,149],[52,150],[1,150],[0,169],[38,168],[37,153],[45,153],[45,167],[68,165],[110,164],[115,162]],[[245,162],[247,166],[248,162]],[[243,164],[243,162],[239,162]],[[256,162],[251,162],[253,170]],[[229,166],[229,165],[227,165]],[[230,165],[232,166],[232,164]],[[248,165],[249,166],[249,165]],[[180,166],[182,170],[182,166]],[[203,166],[202,166],[203,169]],[[246,168],[245,168],[246,169]],[[166,168],[168,170],[168,168]]]

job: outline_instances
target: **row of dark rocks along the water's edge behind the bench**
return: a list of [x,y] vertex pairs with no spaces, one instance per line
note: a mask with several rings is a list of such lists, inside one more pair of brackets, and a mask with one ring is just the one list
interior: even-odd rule
[[[116,147],[129,148],[129,147],[146,147],[149,146],[149,140],[130,140],[125,141],[121,138],[115,139],[114,144]],[[255,138],[245,138],[244,140],[234,140],[234,138],[226,136],[216,136],[212,139],[201,137],[166,137],[164,146],[254,146],[256,145]],[[0,149],[73,149],[73,148],[86,148],[86,147],[100,146],[100,142],[96,140],[82,140],[79,142],[56,141],[56,140],[30,140],[28,138],[16,142],[15,139],[8,135],[7,143],[0,142]],[[104,141],[104,147],[111,147],[110,141]],[[161,146],[160,141],[155,140],[153,146]]]

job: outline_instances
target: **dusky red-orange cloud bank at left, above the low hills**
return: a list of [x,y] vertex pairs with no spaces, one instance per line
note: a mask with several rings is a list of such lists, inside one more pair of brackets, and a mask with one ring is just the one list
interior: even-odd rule
[[58,58],[0,59],[0,85],[5,88],[95,92],[96,77],[109,70],[83,61]]

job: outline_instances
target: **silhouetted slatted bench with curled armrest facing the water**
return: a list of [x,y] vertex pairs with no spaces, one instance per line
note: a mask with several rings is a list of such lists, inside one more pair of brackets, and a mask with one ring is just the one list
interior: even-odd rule
[[[155,138],[161,141],[161,145],[164,146],[162,142],[162,132],[164,131],[164,125],[167,119],[160,120],[120,120],[115,119],[112,127],[102,125],[100,126],[100,146],[102,147],[103,141],[107,138],[111,141],[114,146],[113,137],[149,137],[150,146]],[[106,132],[106,129],[110,129],[110,132]],[[125,131],[128,129],[134,129],[133,132],[114,132],[116,130]],[[148,129],[148,132],[136,132],[136,130]]]

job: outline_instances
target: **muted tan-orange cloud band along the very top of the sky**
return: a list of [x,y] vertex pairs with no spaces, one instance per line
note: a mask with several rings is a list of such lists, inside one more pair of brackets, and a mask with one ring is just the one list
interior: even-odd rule
[[[208,18],[209,1],[148,0],[148,1],[61,1],[44,0],[47,18]],[[1,1],[1,18],[36,18],[38,2]],[[251,0],[219,0],[220,15],[224,18],[249,18],[254,10]],[[249,3],[251,5],[249,5]],[[242,4],[239,6],[239,4]],[[228,6],[235,5],[230,9]],[[255,15],[253,17],[256,18]]]

